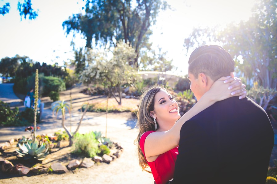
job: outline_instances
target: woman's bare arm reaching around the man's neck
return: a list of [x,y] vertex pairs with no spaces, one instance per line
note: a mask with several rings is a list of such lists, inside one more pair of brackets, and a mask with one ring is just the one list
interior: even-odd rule
[[[246,97],[243,91],[245,85],[240,82],[240,79],[222,77],[214,82],[209,91],[207,91],[199,101],[185,113],[169,130],[165,132],[153,132],[145,139],[145,156],[151,162],[158,155],[169,151],[179,145],[180,129],[182,125],[190,118],[201,112],[202,110],[213,105],[215,102],[230,98],[232,96]],[[229,88],[229,89],[228,89]],[[233,92],[235,94],[233,94]],[[232,95],[232,94],[233,95]]]

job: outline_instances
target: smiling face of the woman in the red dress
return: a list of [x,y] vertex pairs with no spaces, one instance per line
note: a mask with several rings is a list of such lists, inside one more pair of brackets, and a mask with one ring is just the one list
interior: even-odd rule
[[[167,91],[161,89],[154,99],[154,115],[161,126],[162,123],[175,124],[181,117],[176,100]],[[173,126],[172,125],[172,126]]]

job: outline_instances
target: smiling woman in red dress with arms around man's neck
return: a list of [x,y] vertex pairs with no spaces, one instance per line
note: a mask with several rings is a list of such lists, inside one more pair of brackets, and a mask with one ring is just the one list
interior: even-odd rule
[[222,77],[182,117],[177,102],[165,88],[153,86],[147,90],[141,96],[136,124],[139,134],[135,141],[142,169],[150,167],[157,184],[172,179],[183,123],[215,102],[231,97],[231,92],[233,96],[241,95],[239,98],[245,98],[244,88],[240,79]]

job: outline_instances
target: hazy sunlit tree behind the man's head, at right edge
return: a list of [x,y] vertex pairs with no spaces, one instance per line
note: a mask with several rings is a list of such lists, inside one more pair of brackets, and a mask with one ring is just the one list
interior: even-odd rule
[[[248,21],[226,29],[194,29],[185,39],[187,50],[217,41],[236,60],[238,70],[260,82],[264,88],[277,86],[277,3],[261,0]],[[241,58],[241,59],[240,59]]]

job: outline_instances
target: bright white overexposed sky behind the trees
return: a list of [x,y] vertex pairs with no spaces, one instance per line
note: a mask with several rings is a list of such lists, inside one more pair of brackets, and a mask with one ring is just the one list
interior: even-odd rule
[[[21,0],[22,1],[22,0]],[[34,10],[39,10],[35,20],[20,21],[18,0],[1,0],[0,6],[10,2],[10,13],[0,15],[0,59],[4,57],[28,56],[40,63],[63,65],[63,61],[74,59],[72,34],[66,37],[62,23],[69,16],[80,13],[81,0],[32,0]],[[77,4],[78,2],[78,4]],[[248,20],[255,0],[168,0],[172,10],[161,11],[157,22],[151,27],[153,49],[162,48],[169,60],[178,69],[175,74],[187,74],[187,61],[183,44],[193,27],[224,26],[229,22]],[[76,48],[84,47],[81,35],[74,39]],[[211,43],[212,44],[212,43]]]

